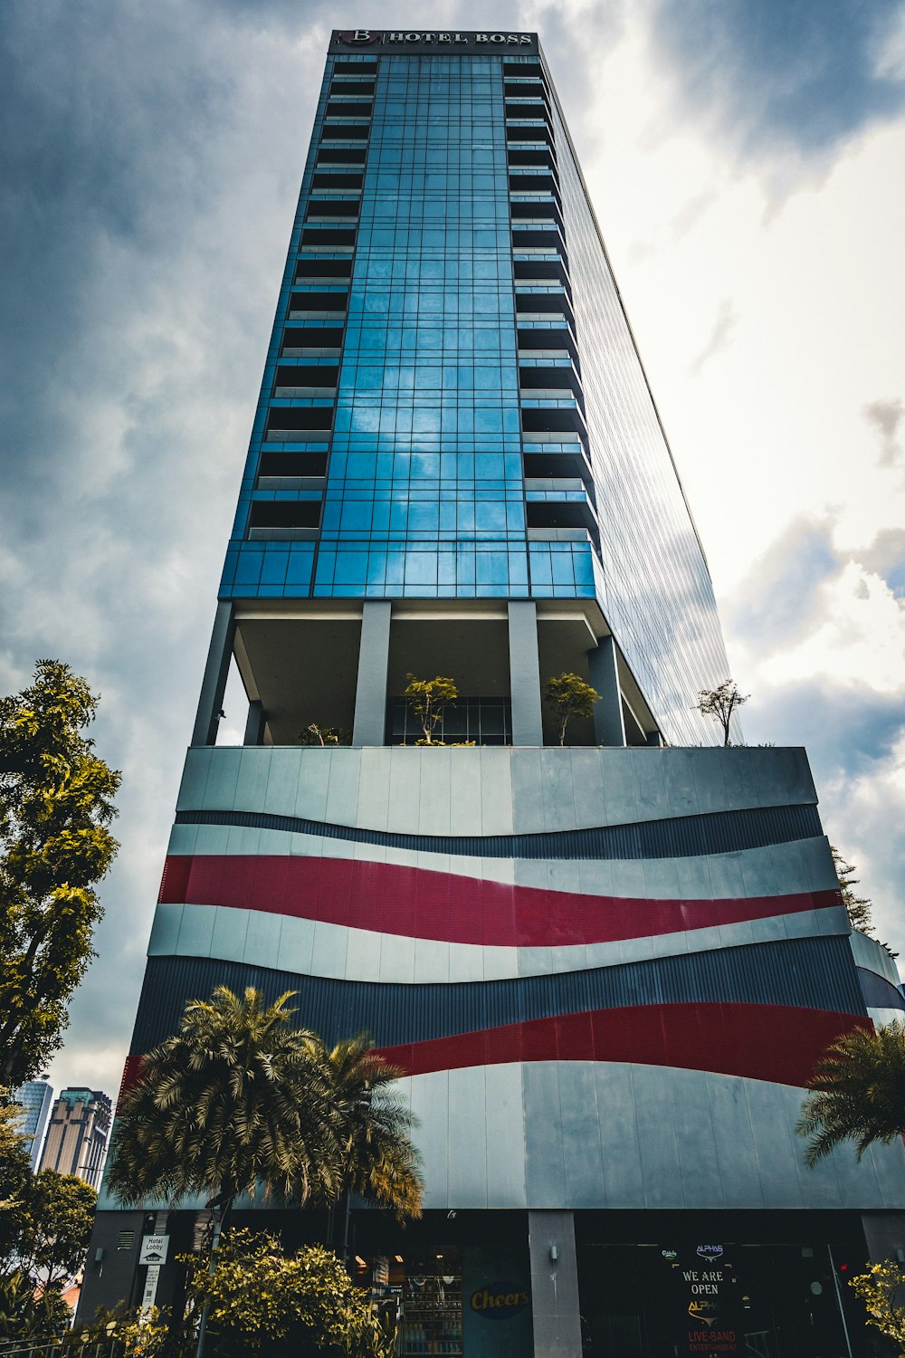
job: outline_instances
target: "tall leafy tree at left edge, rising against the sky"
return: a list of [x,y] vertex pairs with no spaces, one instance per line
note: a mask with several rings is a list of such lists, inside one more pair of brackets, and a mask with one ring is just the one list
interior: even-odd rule
[[0,1084],[37,1074],[94,956],[119,774],[83,732],[98,699],[57,660],[0,698]]

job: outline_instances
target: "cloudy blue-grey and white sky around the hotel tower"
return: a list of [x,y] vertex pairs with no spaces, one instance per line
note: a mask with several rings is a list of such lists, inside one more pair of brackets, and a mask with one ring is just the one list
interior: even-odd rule
[[[57,1088],[118,1089],[330,29],[487,20],[3,5],[0,691],[66,660],[123,770]],[[493,24],[541,34],[746,739],[807,747],[905,955],[905,4],[505,0]]]

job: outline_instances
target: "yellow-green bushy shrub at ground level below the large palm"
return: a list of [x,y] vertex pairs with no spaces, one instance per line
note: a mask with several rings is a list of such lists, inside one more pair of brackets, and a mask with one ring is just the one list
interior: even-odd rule
[[189,1264],[190,1300],[197,1309],[209,1308],[218,1354],[255,1353],[263,1343],[290,1338],[293,1351],[307,1339],[354,1358],[387,1353],[388,1336],[368,1294],[322,1245],[284,1256],[277,1236],[242,1229],[224,1233],[213,1275],[197,1255],[180,1258]]

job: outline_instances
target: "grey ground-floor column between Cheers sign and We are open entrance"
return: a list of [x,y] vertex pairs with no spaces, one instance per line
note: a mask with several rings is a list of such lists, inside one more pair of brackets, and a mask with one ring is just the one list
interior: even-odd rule
[[529,1211],[536,1358],[581,1358],[575,1224],[571,1211]]

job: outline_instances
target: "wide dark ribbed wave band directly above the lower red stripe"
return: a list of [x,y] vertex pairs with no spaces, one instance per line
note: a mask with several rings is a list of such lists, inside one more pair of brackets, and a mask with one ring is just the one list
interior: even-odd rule
[[625,966],[457,985],[296,975],[213,957],[149,957],[133,1051],[176,1031],[214,986],[296,991],[299,1023],[327,1042],[366,1029],[379,1047],[430,1042],[567,1013],[668,1004],[748,1004],[866,1014],[848,938],[790,938]]

